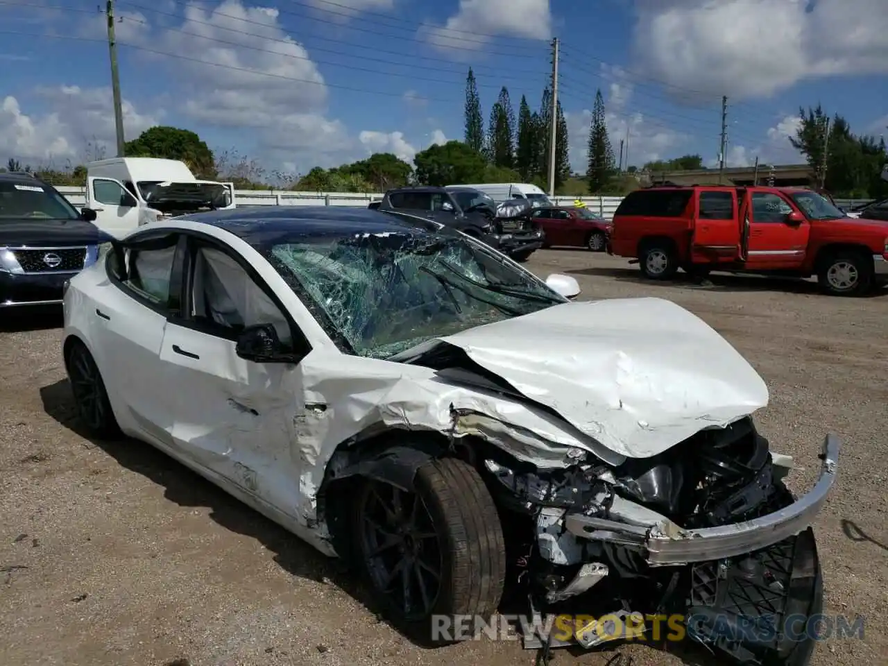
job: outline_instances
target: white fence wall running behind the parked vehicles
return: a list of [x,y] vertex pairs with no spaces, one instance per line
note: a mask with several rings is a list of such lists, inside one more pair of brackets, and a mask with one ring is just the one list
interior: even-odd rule
[[[80,208],[86,205],[86,189],[84,187],[57,187],[69,202]],[[382,193],[348,192],[292,192],[289,190],[237,190],[234,193],[238,206],[356,206],[366,208],[371,201],[382,199]],[[583,196],[581,200],[591,208],[610,219],[614,210],[622,201],[621,196]],[[572,196],[552,197],[559,205],[571,205],[575,202]],[[863,203],[862,200],[836,200],[839,206],[846,208]]]

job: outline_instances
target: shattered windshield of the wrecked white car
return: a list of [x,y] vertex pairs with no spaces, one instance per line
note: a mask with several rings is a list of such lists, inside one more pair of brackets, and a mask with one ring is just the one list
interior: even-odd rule
[[370,358],[566,302],[462,237],[313,236],[258,250],[345,351]]

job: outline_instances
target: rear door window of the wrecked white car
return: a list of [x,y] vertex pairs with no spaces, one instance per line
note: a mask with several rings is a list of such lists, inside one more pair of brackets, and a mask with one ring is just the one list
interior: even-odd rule
[[131,296],[150,305],[170,306],[170,281],[178,234],[124,247],[108,258],[108,271]]

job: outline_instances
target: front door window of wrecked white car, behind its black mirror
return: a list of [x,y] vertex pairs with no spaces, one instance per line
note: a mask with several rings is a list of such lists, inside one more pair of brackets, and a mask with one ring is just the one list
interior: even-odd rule
[[292,345],[289,320],[233,257],[196,242],[193,255],[190,319],[211,335],[235,339],[249,326],[272,324],[281,343]]

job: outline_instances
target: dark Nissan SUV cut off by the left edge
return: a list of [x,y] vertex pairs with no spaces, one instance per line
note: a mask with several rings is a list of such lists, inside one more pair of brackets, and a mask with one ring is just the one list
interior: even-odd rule
[[111,242],[55,187],[28,173],[0,173],[0,310],[57,305],[67,280]]

